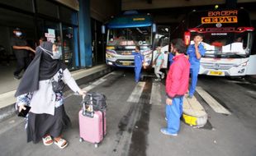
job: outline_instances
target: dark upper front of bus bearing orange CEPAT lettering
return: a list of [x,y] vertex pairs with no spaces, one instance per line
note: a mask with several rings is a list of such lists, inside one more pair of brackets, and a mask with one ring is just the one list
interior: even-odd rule
[[187,28],[249,27],[249,13],[244,9],[216,9],[192,11],[187,18]]

